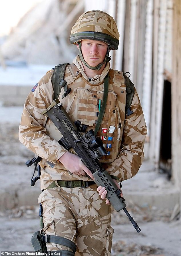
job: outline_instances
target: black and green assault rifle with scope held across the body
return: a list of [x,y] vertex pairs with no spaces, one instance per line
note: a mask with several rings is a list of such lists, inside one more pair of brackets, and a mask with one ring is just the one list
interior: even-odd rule
[[63,137],[58,141],[59,144],[63,145],[67,150],[70,148],[75,150],[82,162],[91,171],[94,182],[98,186],[106,188],[106,198],[109,199],[114,209],[116,211],[123,209],[133,227],[139,233],[141,229],[126,210],[125,199],[120,196],[120,189],[118,189],[110,174],[104,170],[98,160],[107,154],[107,151],[102,145],[102,140],[94,134],[92,129],[82,135],[58,99],[55,99],[42,114],[49,117],[61,132]]

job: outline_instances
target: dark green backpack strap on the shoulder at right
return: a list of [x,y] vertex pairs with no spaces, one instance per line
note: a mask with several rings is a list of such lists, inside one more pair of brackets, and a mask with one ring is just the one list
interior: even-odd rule
[[[126,72],[129,73],[129,72]],[[127,77],[126,73],[123,73],[124,79],[125,79],[125,85],[126,85],[126,108],[125,108],[125,114],[127,116],[131,115],[133,111],[130,110],[130,105],[132,103],[135,88],[134,84],[131,82],[131,80]]]

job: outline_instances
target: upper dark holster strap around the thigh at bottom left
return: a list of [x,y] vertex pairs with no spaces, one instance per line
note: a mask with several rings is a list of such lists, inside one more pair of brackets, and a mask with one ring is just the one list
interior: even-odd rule
[[59,237],[57,235],[48,235],[43,236],[43,242],[45,243],[57,243],[59,245],[64,245],[69,247],[74,253],[76,252],[76,245],[71,240],[65,237]]

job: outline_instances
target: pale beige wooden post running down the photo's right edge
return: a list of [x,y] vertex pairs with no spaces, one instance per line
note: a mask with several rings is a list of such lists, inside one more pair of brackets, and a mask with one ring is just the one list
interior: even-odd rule
[[181,192],[181,1],[173,1],[172,36],[172,173]]

